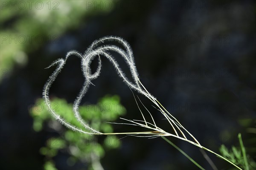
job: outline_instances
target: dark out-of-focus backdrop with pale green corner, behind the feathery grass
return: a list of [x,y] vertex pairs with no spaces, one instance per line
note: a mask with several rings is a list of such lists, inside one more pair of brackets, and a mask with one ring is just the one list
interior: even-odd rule
[[[54,68],[44,69],[70,50],[83,53],[106,35],[123,37],[134,51],[141,82],[166,109],[207,148],[239,146],[256,159],[256,25],[253,0],[59,0],[0,1],[0,148],[1,169],[42,169],[39,149],[50,136],[36,133],[29,112],[42,97]],[[119,56],[116,56],[117,58]],[[119,60],[118,60],[119,61]],[[96,67],[96,62],[92,63]],[[50,96],[73,103],[84,78],[78,57],[70,57],[52,85]],[[127,119],[142,117],[130,89],[102,58],[101,76],[93,81],[84,102],[105,94],[120,96]],[[121,68],[125,63],[120,60]],[[128,68],[125,70],[128,73]],[[168,122],[143,99],[156,123]],[[122,120],[117,120],[122,122]],[[114,125],[118,132],[136,127]],[[125,136],[118,136],[119,138]],[[189,156],[211,169],[198,148],[169,138]],[[128,136],[119,149],[102,158],[105,169],[197,169],[161,138]],[[230,165],[208,154],[220,169]],[[58,169],[84,169],[62,166]],[[85,168],[86,169],[86,168]]]

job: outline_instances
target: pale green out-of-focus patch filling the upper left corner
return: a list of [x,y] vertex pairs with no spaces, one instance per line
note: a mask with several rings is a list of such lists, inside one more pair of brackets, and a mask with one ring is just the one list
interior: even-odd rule
[[112,9],[107,8],[112,0],[0,2],[1,69],[26,65],[30,52],[47,43],[58,43],[65,31],[86,24],[85,19],[90,15]]

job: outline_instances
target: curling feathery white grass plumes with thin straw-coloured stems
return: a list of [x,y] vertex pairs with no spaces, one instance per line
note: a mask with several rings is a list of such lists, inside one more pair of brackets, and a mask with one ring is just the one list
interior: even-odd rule
[[[120,45],[122,45],[122,48],[120,48],[116,45],[111,45],[111,42],[112,42],[112,44],[114,44],[113,42],[119,43]],[[108,43],[108,45],[105,45],[106,43]],[[110,53],[111,51],[118,53],[125,60],[126,64],[128,65],[128,67],[131,71],[132,81],[130,81],[126,77],[125,73],[122,71],[122,69],[119,67],[118,63],[114,59],[113,55]],[[49,100],[49,88],[51,87],[52,83],[55,81],[58,74],[61,72],[61,69],[66,64],[68,57],[70,57],[71,55],[76,55],[77,57],[79,57],[81,59],[81,69],[82,69],[82,72],[84,75],[84,85],[83,85],[79,95],[76,97],[75,102],[73,103],[73,112],[76,116],[76,119],[81,123],[81,125],[83,125],[83,127],[84,127],[83,129],[76,127],[74,125],[71,125],[69,122],[65,121],[63,118],[61,118],[61,116],[59,116],[57,113],[55,113],[55,111],[52,110],[50,107],[51,103]],[[154,121],[153,116],[151,115],[151,113],[148,111],[147,108],[145,108],[145,109],[148,111],[148,114],[150,115],[152,122],[146,120],[135,97],[134,97],[134,99],[137,103],[137,106],[140,110],[143,120],[128,120],[128,119],[121,118],[121,119],[127,121],[126,123],[122,123],[122,124],[145,127],[148,129],[148,131],[125,132],[125,133],[102,133],[99,130],[93,129],[85,120],[83,120],[81,118],[81,115],[79,113],[79,105],[81,103],[81,99],[86,94],[89,86],[93,85],[92,80],[99,77],[100,72],[101,72],[101,66],[102,66],[100,57],[103,57],[103,56],[106,57],[113,64],[119,77],[122,78],[123,82],[125,82],[125,84],[128,85],[129,88],[131,88],[131,90],[137,91],[139,94],[142,94],[143,96],[147,97],[154,104],[154,107],[157,108],[157,110],[165,117],[167,122],[172,127],[172,131],[173,131],[172,133],[166,132],[165,130],[163,130],[159,126],[157,126],[156,122]],[[90,64],[93,61],[93,59],[95,59],[95,58],[98,58],[98,68],[96,69],[95,73],[92,73]],[[94,134],[94,135],[127,134],[127,135],[134,135],[134,136],[143,136],[143,137],[160,137],[161,136],[164,139],[166,139],[164,136],[172,136],[172,137],[178,138],[180,140],[194,144],[195,146],[197,146],[201,149],[204,149],[211,153],[214,153],[216,156],[220,157],[221,159],[224,159],[224,160],[228,161],[230,164],[233,164],[233,162],[229,161],[228,159],[218,155],[217,153],[213,152],[212,150],[207,149],[206,147],[203,147],[198,142],[198,140],[195,139],[195,137],[191,133],[189,133],[189,131],[186,130],[186,128],[183,127],[183,125],[181,125],[181,123],[174,116],[172,116],[172,114],[169,113],[153,95],[151,95],[146,90],[146,88],[140,82],[139,74],[137,72],[137,68],[134,63],[134,56],[133,56],[131,47],[128,44],[128,42],[126,42],[122,38],[113,37],[113,36],[103,37],[99,40],[94,41],[90,45],[90,47],[87,49],[87,51],[85,51],[84,54],[80,54],[77,51],[70,51],[67,53],[67,56],[65,59],[58,59],[55,62],[53,62],[49,67],[52,67],[54,65],[57,65],[57,67],[56,67],[55,71],[52,73],[52,75],[49,77],[46,84],[44,85],[43,98],[46,102],[46,105],[49,108],[49,111],[52,113],[52,115],[55,117],[55,119],[57,119],[59,122],[61,122],[63,125],[67,126],[68,128],[78,131],[80,133]],[[204,156],[205,156],[205,154],[204,154]],[[205,157],[207,157],[207,156],[205,156]],[[233,165],[235,167],[239,168],[236,164],[233,164]],[[214,167],[214,165],[212,165],[212,167]],[[216,169],[216,168],[214,168],[214,169]],[[239,168],[239,169],[241,169],[241,168]]]

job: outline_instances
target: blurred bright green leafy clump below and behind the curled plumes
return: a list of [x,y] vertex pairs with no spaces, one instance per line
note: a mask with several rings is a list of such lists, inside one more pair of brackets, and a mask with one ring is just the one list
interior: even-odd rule
[[[73,114],[72,105],[64,99],[53,99],[52,109],[70,124],[84,129]],[[96,105],[83,105],[79,108],[81,117],[90,123],[91,127],[104,133],[113,132],[112,122],[124,115],[126,110],[120,104],[119,96],[105,96]],[[106,150],[118,148],[120,141],[115,135],[88,135],[67,129],[57,122],[49,113],[43,99],[38,99],[31,110],[34,119],[33,128],[39,132],[44,125],[59,134],[47,140],[46,146],[41,147],[40,153],[46,156],[44,169],[55,170],[53,157],[58,152],[68,153],[67,164],[73,166],[77,161],[87,163],[89,169],[99,168],[100,159]],[[99,139],[100,137],[100,139]]]

